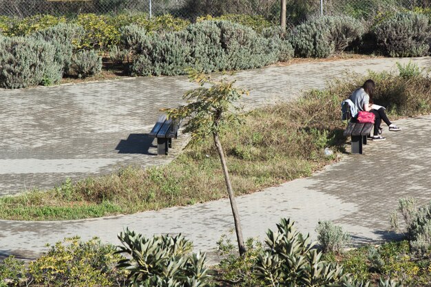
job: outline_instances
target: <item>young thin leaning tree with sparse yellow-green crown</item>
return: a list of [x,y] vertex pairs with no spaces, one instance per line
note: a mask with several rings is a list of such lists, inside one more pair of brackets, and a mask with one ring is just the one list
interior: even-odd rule
[[233,220],[235,222],[236,237],[240,255],[246,252],[238,208],[235,202],[235,195],[229,171],[227,169],[226,156],[220,136],[223,134],[224,127],[235,122],[240,123],[240,108],[234,105],[242,95],[249,94],[244,89],[233,87],[234,81],[228,81],[222,77],[220,81],[214,81],[211,77],[200,74],[195,70],[189,72],[189,79],[197,83],[200,87],[191,89],[182,97],[187,101],[187,105],[182,105],[176,109],[163,109],[169,118],[187,118],[185,133],[191,134],[189,144],[193,145],[204,138],[212,137],[215,148],[220,156],[224,180],[227,193],[231,202]]

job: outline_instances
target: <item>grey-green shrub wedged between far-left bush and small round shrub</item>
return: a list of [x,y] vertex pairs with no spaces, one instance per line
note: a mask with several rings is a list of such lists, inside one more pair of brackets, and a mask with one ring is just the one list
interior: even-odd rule
[[78,43],[82,34],[81,26],[61,23],[36,32],[32,36],[34,39],[41,39],[54,45],[56,50],[54,60],[63,67],[63,71],[67,74],[72,59],[73,43]]

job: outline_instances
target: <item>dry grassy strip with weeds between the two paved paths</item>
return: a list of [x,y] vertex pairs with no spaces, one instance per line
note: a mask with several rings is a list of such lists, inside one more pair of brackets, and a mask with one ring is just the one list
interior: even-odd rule
[[[377,84],[375,103],[389,114],[414,116],[431,112],[431,79],[423,74],[350,76],[328,89],[307,92],[246,114],[245,125],[223,136],[233,189],[237,195],[310,176],[335,160],[324,148],[343,151],[340,103],[366,78]],[[226,196],[220,161],[203,142],[163,167],[128,167],[117,173],[65,182],[49,191],[0,198],[0,217],[13,220],[65,220],[136,213],[168,206],[207,202]]]

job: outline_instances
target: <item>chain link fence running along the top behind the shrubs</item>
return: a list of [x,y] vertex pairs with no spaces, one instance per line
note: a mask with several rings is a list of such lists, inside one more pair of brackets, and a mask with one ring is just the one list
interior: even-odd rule
[[[370,17],[376,12],[430,8],[431,0],[287,0],[288,21],[297,23],[323,14]],[[149,16],[173,14],[194,20],[221,14],[261,15],[270,21],[280,18],[280,0],[0,0],[0,15],[28,17],[34,14],[76,15],[145,12]]]

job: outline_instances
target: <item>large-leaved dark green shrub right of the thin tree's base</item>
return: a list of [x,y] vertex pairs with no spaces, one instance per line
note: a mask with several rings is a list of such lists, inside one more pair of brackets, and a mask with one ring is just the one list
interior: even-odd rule
[[346,280],[343,268],[322,260],[309,235],[299,233],[294,222],[282,219],[277,229],[266,233],[267,248],[255,267],[266,286],[329,286]]

